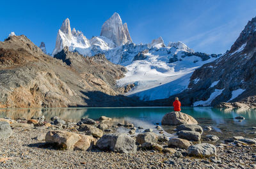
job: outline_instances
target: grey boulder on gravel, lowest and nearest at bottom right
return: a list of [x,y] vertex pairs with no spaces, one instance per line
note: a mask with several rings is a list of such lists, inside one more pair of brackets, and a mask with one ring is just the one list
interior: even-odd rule
[[200,158],[216,156],[216,147],[211,143],[200,143],[196,145],[191,145],[188,148],[189,156],[197,156]]

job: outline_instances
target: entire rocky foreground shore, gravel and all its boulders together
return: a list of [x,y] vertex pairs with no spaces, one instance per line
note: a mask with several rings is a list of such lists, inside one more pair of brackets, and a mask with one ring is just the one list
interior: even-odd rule
[[[177,126],[174,136],[163,126],[143,129],[104,116],[78,122],[3,118],[0,168],[256,168],[256,138],[234,133],[218,140],[209,135],[214,129],[177,112],[164,115],[166,121]],[[119,133],[122,128],[129,132]]]

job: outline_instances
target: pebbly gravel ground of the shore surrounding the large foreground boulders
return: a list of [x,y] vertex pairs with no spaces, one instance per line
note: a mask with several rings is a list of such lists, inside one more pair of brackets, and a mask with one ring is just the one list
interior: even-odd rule
[[[0,143],[0,161],[6,158],[0,163],[1,168],[256,168],[255,144],[224,143],[224,140],[221,140],[223,143],[216,144],[217,154],[214,158],[189,156],[187,149],[170,148],[166,140],[157,142],[163,147],[161,151],[152,147],[145,150],[138,143],[136,143],[136,153],[129,154],[102,151],[95,145],[90,151],[61,151],[56,149],[55,145],[45,143],[42,135],[59,130],[86,134],[84,131],[79,131],[80,127],[75,123],[67,123],[67,127],[63,127],[65,124],[48,126],[48,122],[39,125],[33,124],[32,120],[17,119],[17,121],[11,124],[13,135],[2,139]],[[106,129],[112,129],[109,132],[102,130],[104,135],[116,133],[116,129],[124,127],[118,127],[109,120],[97,121],[96,124],[89,125],[99,124],[107,124]],[[134,138],[132,135],[131,137]],[[167,150],[169,152],[166,152]]]

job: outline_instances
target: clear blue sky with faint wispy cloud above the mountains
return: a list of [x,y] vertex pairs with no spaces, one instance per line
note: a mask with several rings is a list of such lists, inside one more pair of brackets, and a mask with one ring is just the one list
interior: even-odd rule
[[52,52],[65,18],[87,38],[116,11],[127,22],[135,43],[159,36],[182,41],[198,52],[223,53],[256,16],[255,0],[129,0],[129,1],[4,1],[0,10],[0,40],[14,31]]

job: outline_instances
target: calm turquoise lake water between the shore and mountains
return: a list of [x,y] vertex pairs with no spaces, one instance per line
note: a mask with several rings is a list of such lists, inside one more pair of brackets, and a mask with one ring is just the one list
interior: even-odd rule
[[[164,114],[172,112],[170,107],[132,107],[132,108],[8,108],[0,109],[0,117],[12,119],[45,116],[45,119],[58,116],[72,122],[89,117],[99,119],[105,115],[116,122],[132,122],[135,126],[154,128],[156,123],[161,123]],[[252,127],[256,127],[256,109],[221,109],[211,107],[182,107],[182,112],[193,116],[200,126],[212,126],[214,131],[209,134],[218,135],[220,138],[234,135],[243,135],[250,138],[256,137]],[[245,117],[239,122],[234,117]],[[163,126],[164,131],[175,133],[172,126]]]

